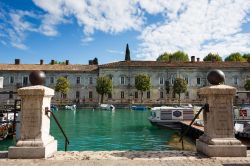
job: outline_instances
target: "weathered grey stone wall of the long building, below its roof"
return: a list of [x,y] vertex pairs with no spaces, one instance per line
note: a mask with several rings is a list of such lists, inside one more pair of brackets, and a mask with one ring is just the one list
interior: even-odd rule
[[[210,68],[157,68],[157,67],[123,67],[123,68],[99,68],[95,72],[79,72],[79,71],[47,71],[46,72],[46,84],[50,88],[54,88],[56,79],[60,76],[67,76],[70,82],[70,90],[66,99],[63,100],[65,104],[72,102],[83,103],[98,103],[99,95],[95,90],[96,78],[100,76],[111,76],[113,81],[112,98],[105,96],[105,102],[108,103],[140,103],[140,93],[138,92],[138,98],[135,98],[135,92],[137,90],[134,87],[135,76],[140,73],[148,74],[151,78],[151,90],[150,98],[147,98],[146,92],[144,92],[143,102],[148,104],[169,104],[177,103],[177,98],[173,98],[172,92],[169,94],[165,90],[165,81],[170,81],[171,78],[181,77],[188,78],[188,96],[187,94],[181,95],[181,100],[184,103],[200,103],[197,90],[201,87],[208,85],[206,81],[206,75]],[[237,88],[237,90],[244,90],[245,78],[250,76],[250,70],[243,70],[241,68],[225,68],[222,71],[226,75],[226,84]],[[18,86],[23,85],[24,77],[28,77],[30,72],[27,71],[1,71],[0,76],[4,77],[4,88],[1,91],[17,91]],[[125,78],[125,84],[121,85],[121,77]],[[10,77],[14,78],[14,82],[10,82]],[[50,83],[51,77],[54,78],[54,83]],[[77,77],[80,77],[80,83],[77,84]],[[93,83],[89,84],[89,78],[92,77]],[[160,77],[163,78],[163,84],[160,84]],[[200,78],[200,84],[197,84],[197,78]],[[235,84],[237,82],[237,84]],[[28,81],[28,85],[30,85]],[[79,92],[79,100],[76,99],[76,93]],[[124,99],[121,99],[121,91],[124,92]],[[89,99],[89,92],[92,92],[92,99]],[[160,93],[163,93],[163,98],[160,98]],[[177,97],[177,96],[176,96]],[[247,101],[246,95],[241,94],[238,97],[238,101],[243,99]],[[13,99],[9,99],[9,95],[0,95],[2,102],[12,102],[16,95],[13,95]],[[52,103],[61,102],[60,94],[56,93],[52,99]]]

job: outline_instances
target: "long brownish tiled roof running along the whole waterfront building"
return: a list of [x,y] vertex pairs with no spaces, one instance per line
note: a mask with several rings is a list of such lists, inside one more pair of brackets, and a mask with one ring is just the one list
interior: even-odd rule
[[190,68],[190,69],[223,69],[223,68],[243,68],[250,69],[248,62],[159,62],[159,61],[118,61],[103,65],[79,65],[79,64],[0,64],[0,71],[66,71],[66,72],[95,72],[98,67],[103,68]]

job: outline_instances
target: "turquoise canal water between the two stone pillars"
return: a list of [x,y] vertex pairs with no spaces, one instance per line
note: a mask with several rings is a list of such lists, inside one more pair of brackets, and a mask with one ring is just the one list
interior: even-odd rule
[[[172,130],[159,129],[147,118],[150,111],[57,111],[70,144],[69,151],[101,150],[169,150]],[[64,150],[64,137],[51,120],[51,135],[58,140],[58,149]],[[0,150],[12,145],[12,140],[0,141]]]

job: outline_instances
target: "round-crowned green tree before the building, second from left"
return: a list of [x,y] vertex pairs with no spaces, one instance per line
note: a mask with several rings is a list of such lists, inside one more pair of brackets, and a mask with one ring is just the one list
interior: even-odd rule
[[107,76],[98,77],[96,80],[96,91],[101,95],[101,103],[103,103],[104,95],[112,92],[112,80]]

